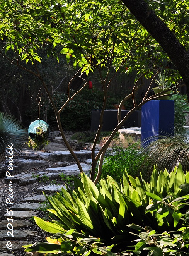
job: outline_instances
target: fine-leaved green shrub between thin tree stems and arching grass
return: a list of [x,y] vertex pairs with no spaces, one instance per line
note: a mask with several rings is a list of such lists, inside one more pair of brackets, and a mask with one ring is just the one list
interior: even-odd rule
[[123,178],[124,170],[130,175],[137,175],[138,166],[141,165],[143,159],[137,158],[139,150],[139,142],[134,143],[124,149],[119,146],[114,146],[112,152],[104,157],[102,165],[102,178],[106,179],[107,175],[114,178],[117,182]]

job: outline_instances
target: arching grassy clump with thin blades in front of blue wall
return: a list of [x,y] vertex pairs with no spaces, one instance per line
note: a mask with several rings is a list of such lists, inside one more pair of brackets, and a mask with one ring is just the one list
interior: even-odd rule
[[138,158],[143,159],[139,170],[142,170],[143,176],[147,180],[151,176],[154,163],[158,170],[167,168],[168,172],[174,170],[174,167],[181,163],[182,169],[186,172],[189,170],[189,136],[185,133],[170,137],[159,136],[141,148]]

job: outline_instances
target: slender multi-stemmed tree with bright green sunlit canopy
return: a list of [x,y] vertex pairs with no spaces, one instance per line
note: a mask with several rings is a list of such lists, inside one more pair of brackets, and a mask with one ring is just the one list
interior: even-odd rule
[[[167,67],[170,62],[167,54],[162,51],[160,45],[150,34],[136,22],[128,10],[123,10],[122,2],[113,0],[104,1],[67,1],[62,4],[60,0],[24,0],[8,1],[0,3],[0,38],[3,46],[0,53],[12,64],[38,77],[46,90],[53,106],[61,136],[77,162],[82,172],[82,167],[72,148],[66,141],[63,127],[60,122],[60,113],[75,95],[80,93],[88,84],[83,78],[83,86],[73,95],[70,86],[75,77],[97,69],[104,92],[104,101],[100,115],[100,125],[92,148],[92,169],[90,178],[98,182],[104,154],[117,130],[125,120],[139,107],[157,96],[148,97],[152,82],[140,103],[136,103],[136,92],[143,85],[141,78],[152,77],[159,69]],[[47,56],[53,55],[58,61],[58,53],[65,55],[67,62],[73,61],[73,67],[77,70],[75,76],[68,83],[68,98],[61,106],[57,107],[52,94],[48,90],[43,75],[40,72],[40,63],[43,58],[40,48],[46,50]],[[15,53],[14,58],[9,55],[10,50]],[[29,68],[28,64],[33,64]],[[138,77],[133,86],[133,92],[126,95],[119,105],[118,125],[112,131],[109,139],[104,143],[99,153],[95,156],[95,146],[100,136],[103,125],[103,114],[107,103],[107,91],[112,79],[117,72],[129,73],[133,69],[138,71]],[[114,71],[112,77],[109,74]],[[178,72],[170,69],[173,88],[177,86]],[[121,120],[121,106],[129,98],[133,98],[133,108]],[[95,168],[98,163],[98,174],[95,178]]]

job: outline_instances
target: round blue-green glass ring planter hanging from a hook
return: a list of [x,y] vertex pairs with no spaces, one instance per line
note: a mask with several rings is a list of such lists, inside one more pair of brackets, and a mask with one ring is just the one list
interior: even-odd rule
[[40,132],[44,132],[44,139],[47,139],[50,133],[49,125],[43,120],[36,120],[32,122],[28,128],[29,137],[34,139],[35,136],[39,135]]

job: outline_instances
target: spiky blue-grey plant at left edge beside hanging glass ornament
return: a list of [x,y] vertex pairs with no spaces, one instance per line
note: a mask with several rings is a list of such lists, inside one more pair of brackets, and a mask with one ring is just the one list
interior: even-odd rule
[[8,145],[13,144],[15,154],[20,152],[24,147],[22,143],[26,130],[20,122],[11,115],[0,112],[0,162],[4,161],[7,156]]

